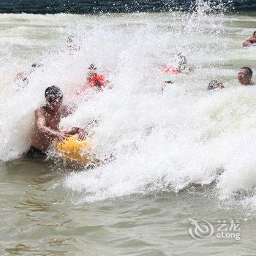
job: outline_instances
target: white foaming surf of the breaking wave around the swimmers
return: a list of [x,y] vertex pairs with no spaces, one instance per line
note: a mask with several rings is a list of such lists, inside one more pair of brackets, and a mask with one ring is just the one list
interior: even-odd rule
[[[220,198],[253,191],[256,90],[239,87],[236,72],[252,63],[254,49],[241,49],[242,28],[231,26],[232,16],[172,12],[101,17],[23,14],[0,15],[0,19],[7,24],[26,20],[20,26],[23,32],[16,29],[18,35],[13,31],[1,42],[3,161],[20,157],[29,148],[33,111],[42,104],[45,88],[56,84],[67,103],[76,100],[74,91],[83,85],[86,67],[94,62],[113,89],[78,101],[76,113],[61,126],[84,127],[97,119],[92,130],[94,152],[112,153],[116,159],[72,173],[65,186],[84,192],[86,201],[178,192],[190,184],[213,181]],[[34,30],[36,25],[42,31]],[[31,26],[35,34],[26,34]],[[75,34],[80,51],[67,52],[68,34]],[[12,48],[15,54],[10,53]],[[181,51],[195,72],[162,75],[162,64]],[[44,66],[20,89],[12,80],[34,61]],[[206,91],[214,78],[226,88]],[[162,91],[165,80],[174,83]]]

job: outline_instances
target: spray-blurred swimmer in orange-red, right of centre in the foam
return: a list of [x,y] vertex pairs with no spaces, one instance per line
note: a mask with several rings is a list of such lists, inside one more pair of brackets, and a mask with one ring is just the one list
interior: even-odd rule
[[188,74],[193,71],[192,67],[189,67],[187,72],[184,72],[184,70],[187,68],[187,58],[182,53],[178,53],[175,56],[175,59],[176,62],[178,63],[177,66],[165,64],[164,67],[162,67],[161,72],[164,74],[179,75],[181,73]]

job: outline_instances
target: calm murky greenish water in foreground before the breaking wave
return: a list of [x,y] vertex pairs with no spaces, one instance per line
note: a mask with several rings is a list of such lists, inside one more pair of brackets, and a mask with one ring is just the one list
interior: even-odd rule
[[[254,255],[256,222],[214,186],[78,203],[42,159],[1,165],[1,255]],[[241,239],[189,236],[189,218],[241,222]],[[188,249],[189,248],[189,249]]]

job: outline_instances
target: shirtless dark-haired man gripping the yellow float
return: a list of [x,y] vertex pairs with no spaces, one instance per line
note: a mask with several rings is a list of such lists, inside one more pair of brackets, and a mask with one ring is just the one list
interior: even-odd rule
[[31,148],[28,157],[45,156],[53,140],[66,140],[69,135],[78,134],[78,140],[86,138],[86,132],[80,128],[73,128],[69,132],[61,132],[59,123],[62,117],[68,116],[72,110],[64,106],[63,94],[57,86],[50,86],[45,90],[46,104],[35,111],[35,126],[31,136]]

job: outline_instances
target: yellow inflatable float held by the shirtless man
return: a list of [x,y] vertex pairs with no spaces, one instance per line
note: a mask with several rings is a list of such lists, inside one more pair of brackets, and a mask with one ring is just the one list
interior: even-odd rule
[[57,141],[56,151],[67,162],[86,164],[90,159],[91,138],[78,140],[78,135],[72,135],[64,143]]

